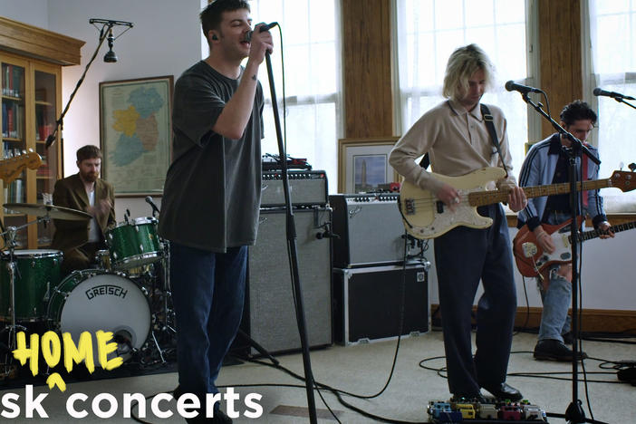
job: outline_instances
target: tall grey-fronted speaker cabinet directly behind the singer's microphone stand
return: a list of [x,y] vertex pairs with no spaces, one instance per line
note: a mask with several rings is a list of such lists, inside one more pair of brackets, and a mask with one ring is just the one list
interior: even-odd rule
[[[331,209],[295,209],[294,221],[308,342],[310,347],[329,345],[332,254],[330,238],[322,236],[323,224],[331,221]],[[269,352],[301,349],[285,227],[284,210],[261,210],[256,244],[249,249],[242,328]]]

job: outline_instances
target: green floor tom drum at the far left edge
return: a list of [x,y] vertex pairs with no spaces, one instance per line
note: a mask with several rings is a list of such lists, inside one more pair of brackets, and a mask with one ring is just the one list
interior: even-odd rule
[[[59,250],[16,250],[15,320],[20,322],[43,321],[51,290],[60,284],[60,265],[63,254]],[[7,265],[9,256],[0,262],[0,320],[11,321],[11,277]]]

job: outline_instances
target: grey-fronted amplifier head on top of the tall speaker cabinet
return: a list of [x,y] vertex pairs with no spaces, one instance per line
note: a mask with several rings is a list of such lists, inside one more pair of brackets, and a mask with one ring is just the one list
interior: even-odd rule
[[[327,203],[327,174],[322,170],[288,170],[293,206],[324,206]],[[284,206],[281,171],[263,172],[261,207]]]

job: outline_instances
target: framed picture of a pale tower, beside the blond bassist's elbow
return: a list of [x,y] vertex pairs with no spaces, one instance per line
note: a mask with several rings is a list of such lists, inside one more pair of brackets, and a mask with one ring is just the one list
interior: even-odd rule
[[377,191],[400,180],[389,153],[400,137],[338,140],[338,192]]

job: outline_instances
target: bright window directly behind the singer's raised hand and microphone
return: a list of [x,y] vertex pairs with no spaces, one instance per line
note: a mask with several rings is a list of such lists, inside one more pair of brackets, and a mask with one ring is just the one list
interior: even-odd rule
[[[337,191],[336,140],[340,124],[340,14],[339,0],[253,0],[252,17],[278,22],[283,30],[284,77],[287,103],[287,154],[306,158],[313,169],[327,172],[329,192]],[[278,111],[283,127],[283,80],[280,37],[274,35],[272,67]],[[263,153],[278,154],[274,115],[265,63],[259,71],[266,106]],[[284,130],[284,128],[281,128]]]

